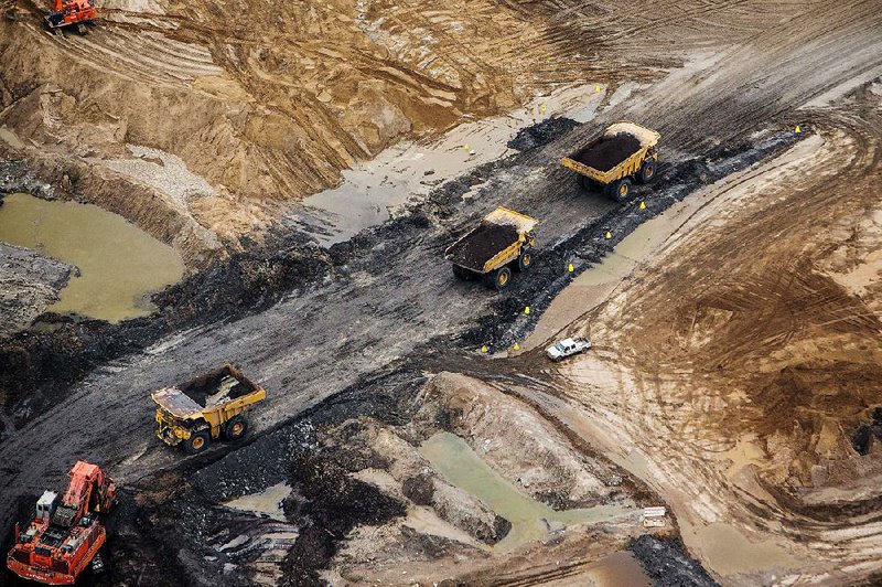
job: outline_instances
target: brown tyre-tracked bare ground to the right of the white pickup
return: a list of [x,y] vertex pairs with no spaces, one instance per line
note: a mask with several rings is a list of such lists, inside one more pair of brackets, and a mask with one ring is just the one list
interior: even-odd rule
[[873,88],[826,114],[820,137],[710,188],[658,258],[567,329],[594,350],[562,367],[562,392],[601,415],[561,406],[569,426],[634,447],[617,462],[663,488],[724,583],[879,569],[864,513],[882,451],[851,442],[882,404]]

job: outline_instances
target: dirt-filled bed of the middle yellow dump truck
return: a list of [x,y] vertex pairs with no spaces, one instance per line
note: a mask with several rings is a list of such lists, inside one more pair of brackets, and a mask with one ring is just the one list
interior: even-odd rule
[[505,207],[497,207],[474,231],[448,247],[444,257],[480,274],[488,273],[517,257],[520,243],[539,221]]

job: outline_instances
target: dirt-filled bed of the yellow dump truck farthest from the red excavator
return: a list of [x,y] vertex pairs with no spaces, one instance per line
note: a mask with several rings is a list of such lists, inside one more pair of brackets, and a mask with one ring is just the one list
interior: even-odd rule
[[591,140],[561,160],[561,163],[600,183],[637,172],[646,152],[656,146],[660,136],[655,130],[634,122],[616,122],[603,135]]

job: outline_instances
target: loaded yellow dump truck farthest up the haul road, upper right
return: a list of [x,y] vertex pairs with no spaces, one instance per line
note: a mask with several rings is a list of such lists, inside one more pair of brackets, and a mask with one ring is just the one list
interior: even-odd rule
[[623,202],[635,180],[648,183],[655,178],[660,138],[635,122],[616,122],[560,162],[579,173],[582,186]]

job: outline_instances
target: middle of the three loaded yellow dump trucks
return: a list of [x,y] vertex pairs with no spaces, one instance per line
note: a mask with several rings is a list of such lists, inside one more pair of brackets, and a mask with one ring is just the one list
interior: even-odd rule
[[526,271],[536,246],[531,231],[539,221],[505,207],[497,207],[444,252],[460,279],[483,278],[488,287],[505,289],[512,269]]

